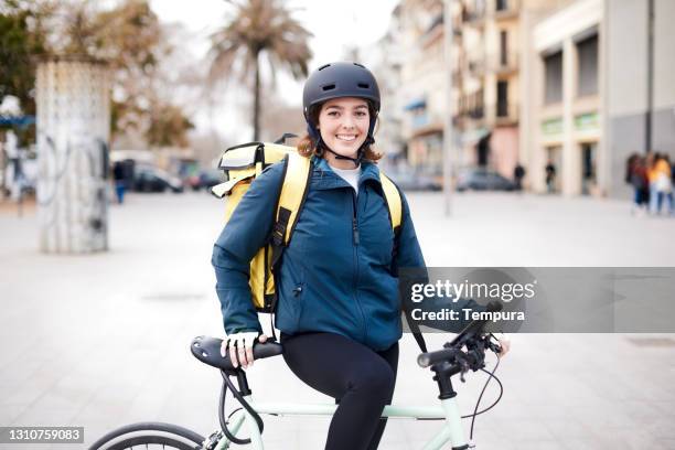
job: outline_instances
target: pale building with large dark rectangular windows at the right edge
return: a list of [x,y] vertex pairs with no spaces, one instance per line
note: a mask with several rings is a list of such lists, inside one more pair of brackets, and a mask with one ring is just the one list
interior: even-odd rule
[[535,192],[628,196],[629,154],[675,156],[673,19],[669,0],[577,0],[533,22],[519,153]]

